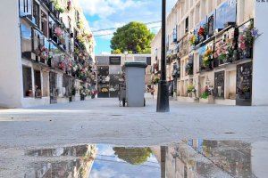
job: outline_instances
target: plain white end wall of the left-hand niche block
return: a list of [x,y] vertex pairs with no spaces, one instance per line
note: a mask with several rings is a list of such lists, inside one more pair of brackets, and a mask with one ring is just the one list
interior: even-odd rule
[[0,5],[0,106],[21,107],[23,97],[18,0]]

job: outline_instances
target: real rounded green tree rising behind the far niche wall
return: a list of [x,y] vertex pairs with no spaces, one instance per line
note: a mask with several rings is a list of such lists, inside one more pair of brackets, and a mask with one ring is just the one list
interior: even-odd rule
[[144,23],[133,21],[117,28],[116,32],[113,33],[111,48],[113,51],[148,53],[154,36]]

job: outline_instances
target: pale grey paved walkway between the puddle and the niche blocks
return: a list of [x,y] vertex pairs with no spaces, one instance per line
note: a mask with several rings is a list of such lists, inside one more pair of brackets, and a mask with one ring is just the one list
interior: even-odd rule
[[122,108],[117,99],[0,110],[0,149],[76,143],[154,145],[181,139],[268,141],[268,107],[171,101],[170,113]]

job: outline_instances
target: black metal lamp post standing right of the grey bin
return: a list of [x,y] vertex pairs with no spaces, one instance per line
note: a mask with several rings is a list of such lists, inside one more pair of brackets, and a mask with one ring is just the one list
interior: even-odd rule
[[161,42],[161,79],[158,84],[157,112],[169,112],[169,86],[166,81],[166,53],[165,53],[165,17],[166,0],[162,0],[162,42]]

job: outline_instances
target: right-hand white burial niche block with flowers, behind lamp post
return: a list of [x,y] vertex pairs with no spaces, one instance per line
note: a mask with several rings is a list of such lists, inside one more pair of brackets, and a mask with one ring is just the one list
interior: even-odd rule
[[[268,2],[178,1],[167,17],[167,79],[179,101],[267,105]],[[152,43],[155,74],[161,31]]]

